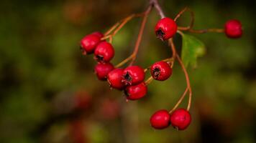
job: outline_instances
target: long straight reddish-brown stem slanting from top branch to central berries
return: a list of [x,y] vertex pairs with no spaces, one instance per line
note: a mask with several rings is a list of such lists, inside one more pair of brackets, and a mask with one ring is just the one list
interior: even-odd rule
[[147,10],[145,11],[145,14],[143,16],[143,19],[142,19],[142,24],[140,26],[140,31],[139,31],[139,34],[138,34],[138,37],[137,37],[137,41],[136,41],[136,44],[134,46],[134,51],[132,53],[132,61],[131,63],[129,64],[130,66],[132,64],[134,64],[134,61],[136,59],[136,56],[137,56],[137,53],[138,53],[138,50],[139,50],[139,47],[140,47],[140,42],[142,41],[142,35],[143,35],[143,31],[145,29],[145,24],[147,22],[147,17],[148,15],[150,14],[150,11],[152,10],[152,5],[148,6]]

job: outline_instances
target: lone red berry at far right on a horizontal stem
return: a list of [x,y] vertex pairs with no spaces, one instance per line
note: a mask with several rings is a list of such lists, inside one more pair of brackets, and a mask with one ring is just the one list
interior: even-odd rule
[[236,19],[232,19],[225,24],[225,34],[229,38],[239,38],[242,36],[242,24]]

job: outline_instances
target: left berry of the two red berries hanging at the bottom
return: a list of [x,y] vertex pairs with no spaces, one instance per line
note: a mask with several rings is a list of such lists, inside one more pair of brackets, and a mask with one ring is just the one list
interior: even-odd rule
[[158,110],[150,117],[150,124],[155,129],[165,129],[170,125],[170,114],[165,109]]

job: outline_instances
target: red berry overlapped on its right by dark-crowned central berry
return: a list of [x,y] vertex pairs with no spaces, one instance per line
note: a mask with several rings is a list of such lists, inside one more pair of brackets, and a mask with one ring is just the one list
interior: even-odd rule
[[124,84],[122,83],[122,75],[124,69],[114,69],[109,72],[107,80],[110,87],[114,89],[124,89]]

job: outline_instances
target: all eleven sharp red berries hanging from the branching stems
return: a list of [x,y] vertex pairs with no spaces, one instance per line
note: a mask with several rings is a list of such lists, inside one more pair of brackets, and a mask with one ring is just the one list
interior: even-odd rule
[[[162,41],[172,38],[177,30],[175,21],[167,17],[160,19],[155,26],[155,34]],[[242,36],[242,24],[237,20],[229,20],[225,24],[224,31],[229,38],[238,38]],[[129,100],[145,97],[147,94],[147,83],[144,82],[145,69],[140,66],[115,68],[110,62],[114,57],[114,48],[110,43],[101,40],[103,37],[104,34],[94,32],[81,40],[83,54],[94,53],[94,59],[98,61],[94,68],[98,79],[108,81],[111,88],[123,90]],[[164,81],[171,76],[172,68],[167,61],[157,61],[150,67],[150,73],[153,79]],[[186,109],[176,109],[170,114],[162,109],[152,115],[150,123],[155,129],[164,129],[172,124],[176,129],[183,130],[191,123],[191,114]]]

